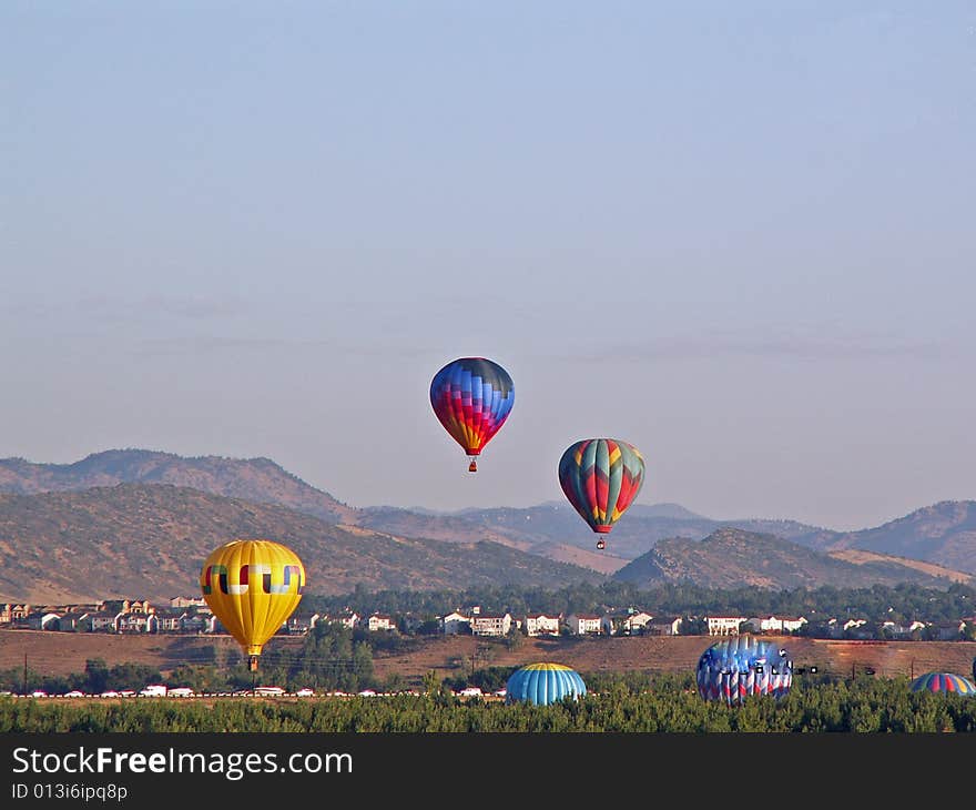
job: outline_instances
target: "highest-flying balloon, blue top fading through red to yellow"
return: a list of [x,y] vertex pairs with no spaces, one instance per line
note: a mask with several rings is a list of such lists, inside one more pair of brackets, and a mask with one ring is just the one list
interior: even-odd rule
[[434,413],[468,455],[470,473],[478,472],[478,456],[505,424],[514,403],[508,372],[485,357],[459,357],[430,383]]

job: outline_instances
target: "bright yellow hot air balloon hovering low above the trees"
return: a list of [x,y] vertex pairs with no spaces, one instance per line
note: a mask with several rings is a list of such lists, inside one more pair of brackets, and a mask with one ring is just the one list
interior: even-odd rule
[[200,574],[204,600],[251,657],[252,672],[261,648],[288,620],[304,588],[302,560],[273,540],[232,540],[211,553]]

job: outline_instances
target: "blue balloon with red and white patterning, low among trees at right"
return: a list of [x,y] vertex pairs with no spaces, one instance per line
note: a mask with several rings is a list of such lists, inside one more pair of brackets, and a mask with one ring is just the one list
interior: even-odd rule
[[772,695],[781,698],[793,684],[789,652],[750,636],[716,641],[702,652],[695,669],[698,693],[705,700],[741,706],[746,698]]

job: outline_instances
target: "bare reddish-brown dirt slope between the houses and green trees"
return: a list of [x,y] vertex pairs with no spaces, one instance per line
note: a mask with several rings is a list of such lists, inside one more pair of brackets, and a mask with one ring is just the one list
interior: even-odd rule
[[[416,649],[394,656],[376,655],[379,680],[398,674],[408,684],[424,675],[457,678],[472,668],[522,666],[555,661],[580,674],[693,671],[699,656],[718,639],[706,636],[621,638],[523,638],[514,647],[472,636],[437,637]],[[821,672],[850,676],[872,668],[878,677],[917,676],[938,670],[969,677],[976,641],[831,641],[769,637],[784,647],[794,668],[815,666]],[[301,638],[275,637],[265,650],[302,645]],[[115,636],[40,630],[0,630],[0,670],[28,667],[42,675],[84,671],[85,661],[103,659],[109,666],[133,662],[159,667],[163,675],[181,664],[210,660],[213,650],[236,649],[226,636]]]

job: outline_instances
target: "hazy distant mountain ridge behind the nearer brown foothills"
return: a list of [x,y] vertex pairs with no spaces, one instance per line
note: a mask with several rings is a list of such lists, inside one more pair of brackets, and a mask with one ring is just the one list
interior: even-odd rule
[[[716,520],[680,504],[634,504],[613,531],[607,548],[597,551],[593,533],[565,500],[553,499],[527,508],[468,508],[457,512],[350,507],[288,473],[270,458],[223,456],[182,457],[149,449],[111,449],[94,453],[73,464],[35,464],[23,458],[0,459],[0,493],[37,495],[85,490],[119,484],[171,485],[257,504],[278,505],[314,516],[329,525],[359,527],[393,537],[471,544],[487,541],[545,558],[557,564],[612,575],[630,561],[644,557],[663,540],[682,538],[692,544],[733,528],[772,536],[824,555],[858,563],[862,574],[875,569],[870,555],[889,558],[885,565],[903,568],[908,560],[941,566],[947,576],[976,574],[976,502],[944,500],[925,506],[882,526],[858,531],[833,531],[789,519],[746,518]],[[0,535],[0,541],[3,540]],[[669,547],[662,548],[662,553]],[[695,546],[687,546],[693,551]],[[699,549],[704,555],[706,547]],[[862,551],[863,554],[854,554]],[[873,559],[873,563],[881,563]],[[817,563],[820,564],[820,563]],[[728,568],[729,563],[725,563]],[[878,571],[885,577],[898,568]],[[908,580],[936,568],[905,570]],[[740,576],[741,575],[741,576]],[[740,571],[740,578],[753,574]],[[702,576],[705,571],[702,570]],[[902,576],[902,574],[895,574]]]

